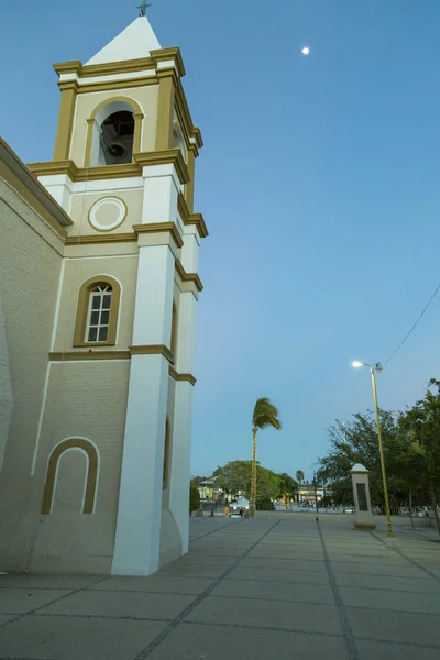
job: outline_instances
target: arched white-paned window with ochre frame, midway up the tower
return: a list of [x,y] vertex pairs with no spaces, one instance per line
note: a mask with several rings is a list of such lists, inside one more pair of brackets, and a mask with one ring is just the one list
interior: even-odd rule
[[113,277],[96,276],[82,283],[74,331],[74,346],[114,345],[121,287]]

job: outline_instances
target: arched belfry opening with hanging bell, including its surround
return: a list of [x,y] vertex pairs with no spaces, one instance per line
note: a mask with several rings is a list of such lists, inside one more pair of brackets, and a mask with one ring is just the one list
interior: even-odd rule
[[130,98],[105,101],[87,120],[85,167],[131,163],[141,151],[140,106]]

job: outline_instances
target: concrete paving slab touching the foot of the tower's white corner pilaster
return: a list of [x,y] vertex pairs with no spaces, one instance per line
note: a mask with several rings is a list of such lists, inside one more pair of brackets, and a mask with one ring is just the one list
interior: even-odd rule
[[197,579],[175,575],[152,575],[151,578],[110,578],[102,584],[91,586],[87,591],[128,591],[162,592],[164,594],[201,594],[215,578]]

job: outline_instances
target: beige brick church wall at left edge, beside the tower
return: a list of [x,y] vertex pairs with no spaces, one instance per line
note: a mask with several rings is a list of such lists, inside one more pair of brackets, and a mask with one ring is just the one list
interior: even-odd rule
[[[32,546],[35,484],[30,479],[44,389],[63,243],[0,179],[0,296],[3,301],[13,413],[0,473],[0,561],[21,561]],[[18,528],[22,529],[20,537]]]

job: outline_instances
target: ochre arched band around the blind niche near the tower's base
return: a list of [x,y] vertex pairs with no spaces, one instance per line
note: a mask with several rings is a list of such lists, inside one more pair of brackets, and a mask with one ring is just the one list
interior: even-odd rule
[[43,493],[42,514],[47,515],[52,513],[57,466],[64,452],[70,449],[80,449],[87,454],[87,477],[81,513],[92,514],[95,510],[99,469],[98,449],[94,442],[87,440],[86,438],[68,438],[67,440],[63,440],[56,447],[54,447],[48,458],[46,482],[44,484]]

